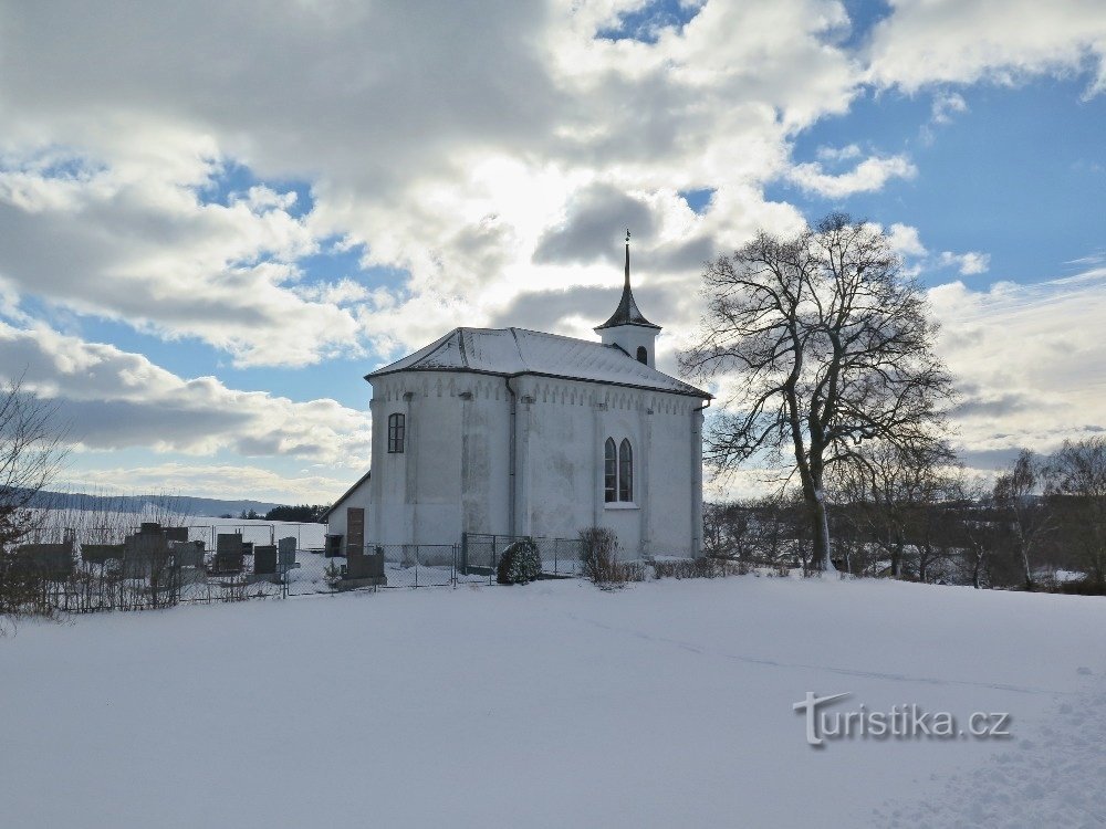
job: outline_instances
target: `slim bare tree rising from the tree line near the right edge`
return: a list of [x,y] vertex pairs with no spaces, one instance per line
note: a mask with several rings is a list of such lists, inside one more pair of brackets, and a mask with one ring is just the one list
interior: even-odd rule
[[1044,473],[1037,457],[1023,449],[994,481],[994,504],[1002,512],[1006,549],[1021,566],[1026,590],[1035,587],[1032,563],[1055,528],[1052,510],[1043,497]]

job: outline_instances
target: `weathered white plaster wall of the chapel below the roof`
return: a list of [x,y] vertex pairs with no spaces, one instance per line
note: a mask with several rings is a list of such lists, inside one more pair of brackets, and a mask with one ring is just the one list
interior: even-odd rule
[[[453,544],[462,532],[574,538],[608,527],[627,558],[698,552],[701,401],[593,382],[411,371],[373,381],[373,475],[366,539]],[[387,420],[406,416],[406,451],[387,452]],[[632,504],[603,501],[603,444],[634,447]],[[513,486],[515,522],[510,523]],[[344,516],[341,517],[344,522]]]

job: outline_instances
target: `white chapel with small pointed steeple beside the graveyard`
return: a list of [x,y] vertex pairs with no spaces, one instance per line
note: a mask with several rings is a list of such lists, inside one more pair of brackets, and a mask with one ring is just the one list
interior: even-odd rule
[[465,533],[575,538],[620,556],[698,556],[710,395],[655,367],[626,274],[599,340],[455,328],[365,377],[372,470],[327,515],[343,546],[458,544]]

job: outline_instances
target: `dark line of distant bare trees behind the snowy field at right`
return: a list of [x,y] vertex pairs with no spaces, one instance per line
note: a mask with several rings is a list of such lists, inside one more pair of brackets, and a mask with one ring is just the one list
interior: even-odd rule
[[[879,454],[874,452],[874,454]],[[857,576],[1106,595],[1106,438],[1022,451],[984,487],[947,455],[884,453],[826,487],[834,566]],[[801,493],[708,504],[708,555],[818,569]]]

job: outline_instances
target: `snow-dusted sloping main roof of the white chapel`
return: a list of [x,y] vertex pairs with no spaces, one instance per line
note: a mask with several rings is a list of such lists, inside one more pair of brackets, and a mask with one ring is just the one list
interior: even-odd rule
[[365,376],[396,371],[542,375],[709,398],[706,391],[649,368],[616,345],[525,328],[453,328],[441,339]]

